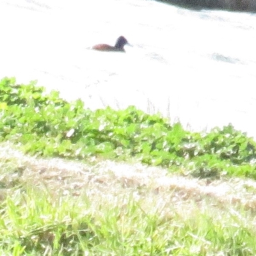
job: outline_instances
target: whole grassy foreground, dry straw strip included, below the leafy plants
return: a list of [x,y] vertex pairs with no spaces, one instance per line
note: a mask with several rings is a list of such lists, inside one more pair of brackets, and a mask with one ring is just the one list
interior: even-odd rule
[[[255,255],[256,182],[1,145],[2,255]],[[22,174],[15,175],[17,170]],[[18,172],[19,173],[19,172]]]

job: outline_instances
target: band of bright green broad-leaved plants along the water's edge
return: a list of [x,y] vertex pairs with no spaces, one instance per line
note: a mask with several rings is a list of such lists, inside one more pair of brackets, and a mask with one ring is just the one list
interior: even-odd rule
[[47,95],[35,83],[15,85],[15,79],[0,82],[0,118],[0,140],[38,156],[134,157],[196,177],[256,179],[256,143],[232,125],[207,134],[189,132],[135,107],[90,111],[81,100],[69,103],[58,92]]

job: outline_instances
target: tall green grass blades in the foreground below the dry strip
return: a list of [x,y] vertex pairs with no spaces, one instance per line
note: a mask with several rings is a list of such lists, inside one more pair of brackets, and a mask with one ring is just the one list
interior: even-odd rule
[[[146,202],[145,202],[146,201]],[[147,204],[145,204],[147,203]],[[209,205],[208,205],[209,206]],[[1,205],[2,255],[255,255],[246,211],[184,209],[132,195],[92,202],[27,188]]]

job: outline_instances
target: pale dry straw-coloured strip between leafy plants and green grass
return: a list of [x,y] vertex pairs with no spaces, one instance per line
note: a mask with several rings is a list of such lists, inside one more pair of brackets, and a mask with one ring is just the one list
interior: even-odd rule
[[173,174],[170,170],[140,163],[87,159],[42,159],[22,154],[10,143],[0,147],[0,199],[17,186],[47,189],[51,195],[86,196],[94,204],[131,196],[145,205],[189,205],[228,210],[230,205],[256,209],[256,182],[250,179],[220,179],[209,182]]

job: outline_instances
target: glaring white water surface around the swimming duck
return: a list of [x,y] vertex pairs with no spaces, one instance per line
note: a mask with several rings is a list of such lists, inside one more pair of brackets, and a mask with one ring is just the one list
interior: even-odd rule
[[[256,138],[256,15],[150,0],[0,0],[0,78],[92,109],[136,105],[200,130]],[[126,53],[92,51],[124,35]]]

